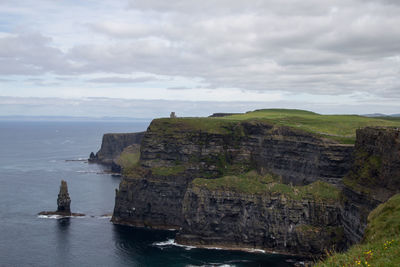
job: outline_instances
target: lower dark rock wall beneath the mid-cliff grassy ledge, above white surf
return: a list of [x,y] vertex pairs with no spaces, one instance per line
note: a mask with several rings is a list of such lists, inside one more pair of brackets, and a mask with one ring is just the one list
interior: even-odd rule
[[191,186],[183,201],[182,244],[247,247],[316,256],[344,246],[333,203],[282,194],[243,194]]

